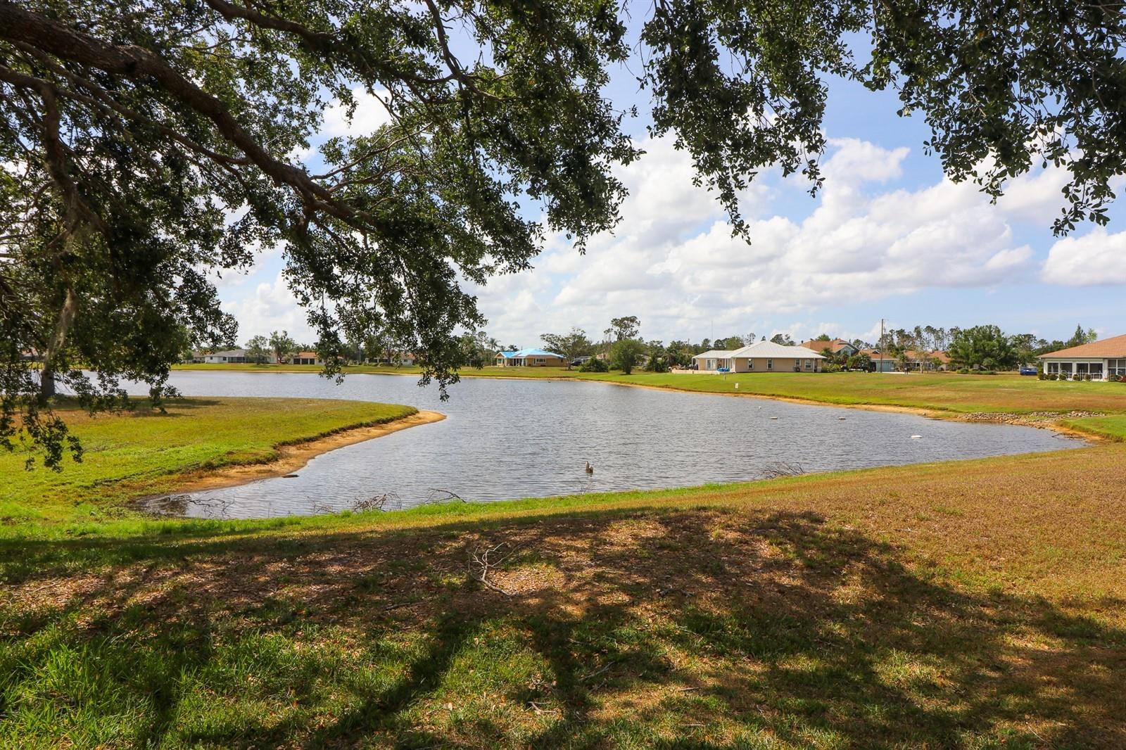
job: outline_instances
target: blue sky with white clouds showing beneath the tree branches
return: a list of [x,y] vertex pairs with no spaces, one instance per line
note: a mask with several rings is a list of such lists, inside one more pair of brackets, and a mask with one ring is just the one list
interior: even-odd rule
[[[644,113],[647,95],[623,71],[609,95]],[[801,177],[760,175],[742,196],[750,243],[732,236],[715,197],[692,185],[689,157],[671,139],[650,139],[644,116],[628,122],[645,155],[619,170],[629,189],[622,222],[586,255],[548,236],[534,269],[468,285],[486,330],[519,347],[572,327],[597,339],[618,315],[637,315],[643,338],[665,341],[752,332],[872,340],[881,319],[890,328],[995,323],[1048,339],[1079,323],[1100,336],[1126,332],[1126,207],[1110,209],[1106,229],[1054,236],[1065,173],[1033,171],[991,205],[975,185],[944,178],[923,153],[926,123],[897,108],[890,92],[833,81],[823,188],[811,197]],[[322,136],[384,122],[361,95],[350,123],[340,108],[327,113]],[[274,249],[250,273],[218,280],[240,342],[280,329],[314,339],[283,266]]]

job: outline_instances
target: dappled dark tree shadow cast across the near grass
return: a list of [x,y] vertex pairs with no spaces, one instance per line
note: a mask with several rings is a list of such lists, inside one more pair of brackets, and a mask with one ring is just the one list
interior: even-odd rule
[[[500,543],[491,588],[471,580]],[[7,593],[11,739],[45,702],[38,739],[170,747],[1126,743],[1121,630],[958,590],[812,514],[151,544]]]

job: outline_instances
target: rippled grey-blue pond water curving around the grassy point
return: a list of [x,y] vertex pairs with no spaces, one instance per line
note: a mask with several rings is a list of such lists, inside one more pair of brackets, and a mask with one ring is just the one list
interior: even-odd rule
[[780,462],[821,472],[1084,445],[1030,427],[588,382],[467,378],[446,402],[437,387],[394,375],[350,375],[337,385],[314,374],[177,372],[170,383],[194,396],[352,399],[446,414],[318,456],[296,477],[149,506],[194,517],[311,515],[373,498],[397,509],[448,493],[491,501],[686,486],[759,479]]

